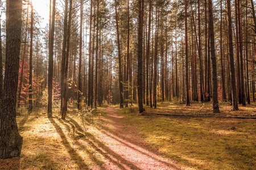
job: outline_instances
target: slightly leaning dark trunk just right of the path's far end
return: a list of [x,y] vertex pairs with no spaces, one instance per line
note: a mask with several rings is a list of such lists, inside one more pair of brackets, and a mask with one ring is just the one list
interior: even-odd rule
[[119,90],[120,90],[120,108],[123,108],[123,76],[122,76],[122,58],[120,48],[120,37],[118,28],[117,1],[115,0],[115,24],[117,28],[117,48],[118,48],[118,67],[119,67]]

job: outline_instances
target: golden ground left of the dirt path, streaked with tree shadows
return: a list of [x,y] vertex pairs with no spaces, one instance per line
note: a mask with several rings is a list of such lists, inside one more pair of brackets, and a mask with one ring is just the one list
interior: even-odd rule
[[0,169],[97,169],[102,164],[91,134],[94,125],[101,121],[98,113],[86,117],[90,123],[86,123],[85,130],[76,109],[69,109],[67,120],[61,120],[57,109],[53,109],[52,118],[42,110],[23,112],[17,117],[23,137],[22,154],[19,158],[0,160]]

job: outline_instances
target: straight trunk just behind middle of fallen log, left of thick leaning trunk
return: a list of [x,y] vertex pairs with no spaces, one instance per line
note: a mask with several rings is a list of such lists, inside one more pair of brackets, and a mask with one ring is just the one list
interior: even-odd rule
[[189,106],[189,87],[188,87],[188,2],[185,0],[185,56],[186,56],[186,106]]

